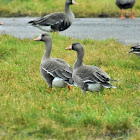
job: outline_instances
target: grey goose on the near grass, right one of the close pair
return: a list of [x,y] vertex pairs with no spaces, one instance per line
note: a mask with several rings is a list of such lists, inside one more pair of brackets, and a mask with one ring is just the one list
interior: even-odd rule
[[96,66],[83,64],[84,49],[80,43],[73,43],[72,46],[66,49],[77,51],[77,60],[73,65],[72,78],[75,86],[82,89],[83,93],[86,93],[86,91],[98,92],[103,87],[116,88],[110,83],[110,81],[116,80],[110,79],[107,73]]

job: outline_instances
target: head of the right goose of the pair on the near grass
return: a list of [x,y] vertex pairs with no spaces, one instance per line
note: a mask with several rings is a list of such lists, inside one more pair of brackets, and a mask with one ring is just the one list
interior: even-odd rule
[[66,50],[74,50],[77,52],[82,52],[83,47],[79,42],[76,42],[76,43],[73,43],[72,45],[70,45],[69,47],[67,47]]

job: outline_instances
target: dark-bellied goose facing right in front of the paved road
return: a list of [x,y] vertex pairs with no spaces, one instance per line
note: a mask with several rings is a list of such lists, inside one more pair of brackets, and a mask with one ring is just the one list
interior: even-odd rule
[[[74,14],[70,10],[69,6],[72,4],[78,5],[74,0],[66,0],[64,13],[52,13],[44,17],[38,18],[28,23],[32,23],[33,26],[40,28],[41,30],[50,32],[59,32],[66,30],[74,21]],[[41,26],[50,26],[51,30],[45,30]]]

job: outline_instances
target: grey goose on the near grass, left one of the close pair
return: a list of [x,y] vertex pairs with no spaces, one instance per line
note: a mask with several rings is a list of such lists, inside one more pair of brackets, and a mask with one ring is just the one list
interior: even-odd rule
[[41,60],[40,72],[44,80],[48,83],[49,88],[66,87],[70,90],[72,84],[72,68],[63,59],[52,58],[50,56],[52,49],[52,39],[48,33],[40,35],[34,41],[43,41],[46,45],[45,53]]

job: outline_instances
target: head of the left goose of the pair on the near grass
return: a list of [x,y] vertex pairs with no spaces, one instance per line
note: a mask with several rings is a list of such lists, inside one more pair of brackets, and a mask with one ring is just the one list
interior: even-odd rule
[[38,36],[34,41],[43,41],[43,42],[49,42],[51,40],[51,37],[49,34],[44,33]]

